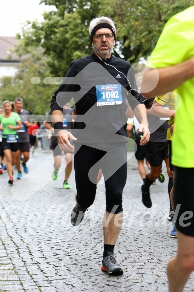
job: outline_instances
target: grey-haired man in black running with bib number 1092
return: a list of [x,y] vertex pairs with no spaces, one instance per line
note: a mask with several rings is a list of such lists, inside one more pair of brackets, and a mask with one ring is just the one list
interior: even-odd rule
[[[114,22],[108,17],[95,18],[90,22],[89,34],[94,51],[71,63],[52,98],[52,120],[60,148],[75,151],[77,195],[71,213],[73,226],[81,223],[93,204],[97,175],[102,168],[106,188],[102,271],[120,275],[123,269],[115,259],[114,246],[122,225],[122,192],[127,176],[126,98],[140,122],[139,131],[144,133],[141,145],[149,140],[148,122],[130,63],[112,55],[116,41]],[[73,130],[76,138],[63,127],[62,107],[72,96],[77,111]],[[69,138],[75,141],[75,149]]]

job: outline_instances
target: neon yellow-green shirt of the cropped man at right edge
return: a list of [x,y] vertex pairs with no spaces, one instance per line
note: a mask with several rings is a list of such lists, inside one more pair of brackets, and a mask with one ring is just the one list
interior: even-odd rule
[[[162,68],[194,57],[194,6],[176,14],[165,25],[147,67]],[[176,89],[172,164],[194,167],[194,78]]]

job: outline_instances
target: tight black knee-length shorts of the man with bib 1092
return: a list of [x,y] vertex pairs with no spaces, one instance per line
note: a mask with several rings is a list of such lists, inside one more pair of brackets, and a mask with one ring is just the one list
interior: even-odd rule
[[127,176],[125,143],[90,143],[87,146],[75,143],[77,202],[85,209],[93,204],[100,168],[105,180],[106,211],[114,214],[122,212],[122,192]]

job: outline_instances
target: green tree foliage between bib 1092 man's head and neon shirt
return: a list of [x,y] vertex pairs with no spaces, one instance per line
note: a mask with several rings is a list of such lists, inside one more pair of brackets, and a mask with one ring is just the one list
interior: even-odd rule
[[193,0],[104,0],[103,12],[116,23],[124,59],[135,63],[150,55],[169,18],[191,5]]

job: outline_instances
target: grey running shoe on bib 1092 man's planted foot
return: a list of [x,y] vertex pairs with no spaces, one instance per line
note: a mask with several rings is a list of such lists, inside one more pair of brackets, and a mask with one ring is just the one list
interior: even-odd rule
[[108,275],[113,275],[113,276],[123,274],[122,267],[117,263],[114,254],[105,256],[103,258],[101,270],[103,272],[107,272]]

